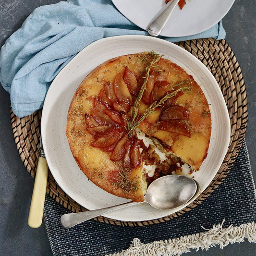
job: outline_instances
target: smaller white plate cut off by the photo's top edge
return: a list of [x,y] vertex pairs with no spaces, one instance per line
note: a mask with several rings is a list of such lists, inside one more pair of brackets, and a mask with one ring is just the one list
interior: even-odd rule
[[[165,0],[112,0],[116,8],[131,22],[147,30],[167,7]],[[230,10],[234,0],[186,0],[177,5],[160,36],[185,37],[201,33],[217,24]]]

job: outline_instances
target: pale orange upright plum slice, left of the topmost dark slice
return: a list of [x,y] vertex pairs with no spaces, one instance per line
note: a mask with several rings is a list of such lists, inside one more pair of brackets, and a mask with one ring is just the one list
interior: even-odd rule
[[118,101],[132,103],[132,95],[130,94],[127,85],[124,83],[121,73],[117,74],[115,77],[114,92]]

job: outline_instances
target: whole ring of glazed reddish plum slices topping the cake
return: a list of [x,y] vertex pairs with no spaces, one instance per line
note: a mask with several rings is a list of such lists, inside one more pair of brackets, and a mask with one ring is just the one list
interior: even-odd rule
[[[149,73],[146,90],[142,95],[142,101],[147,106],[175,92],[169,90],[169,82],[159,79],[158,72]],[[125,127],[130,118],[131,106],[144,82],[145,73],[137,81],[135,74],[126,66],[123,75],[118,73],[114,82],[105,83],[98,96],[93,98],[91,115],[85,114],[86,129],[94,136],[91,146],[111,153],[110,159],[122,161],[123,167],[127,169],[136,169],[141,163],[140,141],[134,135],[129,138]],[[159,118],[157,117],[158,122],[152,125],[158,130],[190,137],[189,129],[185,125],[189,120],[188,110],[175,105],[177,98],[182,95],[183,92],[180,91],[166,100],[158,108],[158,111],[161,110]]]

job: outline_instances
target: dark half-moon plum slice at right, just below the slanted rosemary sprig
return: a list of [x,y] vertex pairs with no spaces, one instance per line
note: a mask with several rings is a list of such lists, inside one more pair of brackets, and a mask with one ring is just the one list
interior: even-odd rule
[[163,110],[159,116],[160,121],[169,121],[169,120],[177,120],[177,119],[188,120],[189,119],[188,110],[178,105],[171,106]]

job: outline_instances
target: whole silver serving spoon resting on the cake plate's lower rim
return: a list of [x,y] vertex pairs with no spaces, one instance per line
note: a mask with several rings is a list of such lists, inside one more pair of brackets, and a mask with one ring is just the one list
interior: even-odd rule
[[[183,206],[198,190],[199,185],[192,178],[167,175],[158,178],[148,186],[143,203],[148,203],[160,210],[170,210]],[[88,219],[137,204],[140,203],[128,202],[97,210],[64,214],[61,216],[61,224],[65,229],[69,229]]]

